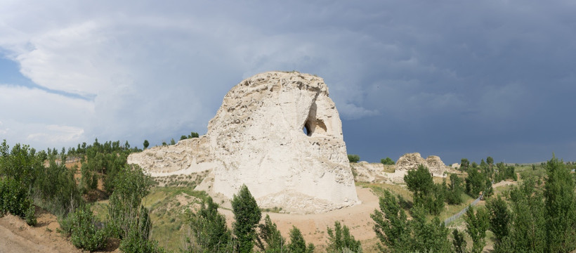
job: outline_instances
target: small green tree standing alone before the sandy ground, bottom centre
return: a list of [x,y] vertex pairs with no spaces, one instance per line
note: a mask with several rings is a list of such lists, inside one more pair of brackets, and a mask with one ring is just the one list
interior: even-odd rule
[[334,229],[328,227],[327,232],[327,252],[362,252],[360,240],[355,240],[348,226],[342,226],[339,221],[334,221]]

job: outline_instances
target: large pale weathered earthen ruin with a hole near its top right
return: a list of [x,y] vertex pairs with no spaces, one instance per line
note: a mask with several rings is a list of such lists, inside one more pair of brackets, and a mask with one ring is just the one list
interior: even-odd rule
[[245,79],[226,94],[205,136],[133,154],[129,162],[152,176],[211,170],[209,192],[231,198],[246,184],[263,208],[326,212],[358,202],[328,88],[299,72]]

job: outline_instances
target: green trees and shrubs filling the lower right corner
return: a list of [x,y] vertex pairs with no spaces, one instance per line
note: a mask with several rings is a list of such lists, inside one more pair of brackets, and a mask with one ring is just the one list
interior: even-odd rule
[[[461,231],[452,231],[450,243],[449,231],[438,217],[426,221],[426,205],[415,204],[410,209],[412,219],[407,219],[400,201],[386,191],[380,198],[380,210],[371,215],[374,231],[382,243],[381,251],[482,252],[486,231],[492,231],[495,252],[572,252],[576,249],[576,176],[556,157],[544,167],[546,177],[523,179],[520,186],[487,199],[485,207],[469,207],[464,220],[466,234],[472,241],[470,248],[466,247]],[[413,173],[414,179],[416,173],[424,174],[424,169],[419,170]],[[419,187],[434,188],[428,179],[422,181]],[[415,203],[425,202],[429,194],[419,187],[409,186]]]

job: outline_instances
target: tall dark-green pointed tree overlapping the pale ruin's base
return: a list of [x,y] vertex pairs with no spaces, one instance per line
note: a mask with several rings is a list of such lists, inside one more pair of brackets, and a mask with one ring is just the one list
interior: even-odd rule
[[237,251],[251,252],[256,239],[256,224],[260,222],[262,214],[246,185],[242,185],[238,194],[233,196],[232,209],[236,220],[233,232],[237,239]]

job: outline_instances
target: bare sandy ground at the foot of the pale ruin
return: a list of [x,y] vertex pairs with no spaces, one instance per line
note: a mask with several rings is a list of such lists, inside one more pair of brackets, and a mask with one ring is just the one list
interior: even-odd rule
[[[362,241],[364,252],[374,252],[376,245],[376,233],[372,230],[373,221],[370,214],[374,209],[379,208],[378,197],[369,188],[356,187],[358,198],[362,203],[353,207],[343,208],[323,214],[278,214],[273,212],[263,212],[262,218],[266,214],[276,223],[284,238],[289,238],[289,231],[292,226],[296,226],[302,232],[306,242],[312,242],[316,246],[317,252],[323,252],[327,242],[327,227],[334,228],[334,221],[340,221],[342,225],[350,228],[351,235],[356,240]],[[226,216],[230,226],[234,214],[230,210],[221,209],[220,212]],[[318,251],[320,249],[320,251]]]

